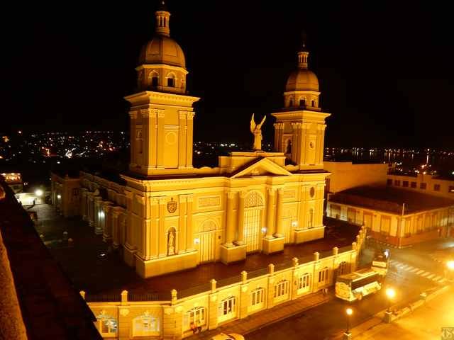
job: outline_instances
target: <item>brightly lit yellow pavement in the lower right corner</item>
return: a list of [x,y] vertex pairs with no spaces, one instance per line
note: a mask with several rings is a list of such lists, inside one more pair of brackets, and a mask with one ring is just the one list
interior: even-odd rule
[[[440,340],[442,327],[454,329],[454,288],[434,297],[411,314],[391,324],[382,322],[383,313],[351,329],[355,340]],[[453,331],[454,334],[454,331]],[[446,338],[453,339],[453,338]]]

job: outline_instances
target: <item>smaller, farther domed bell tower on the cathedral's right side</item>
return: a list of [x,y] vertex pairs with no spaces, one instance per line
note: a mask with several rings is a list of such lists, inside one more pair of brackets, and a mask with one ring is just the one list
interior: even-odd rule
[[298,52],[298,67],[287,79],[282,112],[272,113],[275,149],[284,152],[300,170],[323,169],[325,118],[319,107],[319,79],[308,69],[309,50],[305,39]]

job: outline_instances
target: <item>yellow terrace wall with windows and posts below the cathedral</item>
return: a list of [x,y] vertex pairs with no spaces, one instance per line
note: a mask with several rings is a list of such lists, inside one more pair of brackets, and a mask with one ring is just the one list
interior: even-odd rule
[[270,263],[259,276],[243,271],[228,285],[211,280],[190,295],[171,290],[168,295],[150,295],[153,300],[138,301],[133,293],[123,290],[111,302],[94,302],[96,297],[89,292],[81,295],[98,319],[96,327],[105,339],[182,339],[193,334],[191,322],[197,322],[201,331],[216,329],[333,285],[336,275],[355,271],[366,239],[365,228],[356,239],[345,249],[316,252],[305,263],[294,258],[279,270]]

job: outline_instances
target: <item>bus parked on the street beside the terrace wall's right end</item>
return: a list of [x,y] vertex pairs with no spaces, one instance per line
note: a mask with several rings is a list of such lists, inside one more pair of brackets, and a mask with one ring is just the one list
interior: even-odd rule
[[336,279],[336,296],[342,300],[361,300],[382,289],[382,276],[371,268],[361,269]]

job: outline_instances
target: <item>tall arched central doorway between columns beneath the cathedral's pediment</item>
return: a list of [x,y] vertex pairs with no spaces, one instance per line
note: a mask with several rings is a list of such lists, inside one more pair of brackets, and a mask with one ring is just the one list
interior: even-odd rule
[[263,198],[258,191],[251,191],[244,201],[244,241],[246,242],[246,252],[260,250],[262,240],[262,210]]

